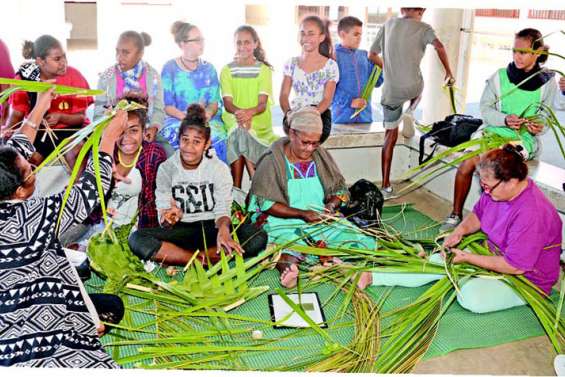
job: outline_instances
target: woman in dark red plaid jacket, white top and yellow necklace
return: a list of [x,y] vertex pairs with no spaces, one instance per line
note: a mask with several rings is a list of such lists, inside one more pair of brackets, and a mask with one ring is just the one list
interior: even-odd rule
[[[129,95],[125,99],[147,106],[143,97]],[[155,207],[157,170],[167,156],[159,144],[143,140],[147,120],[145,109],[128,112],[127,129],[116,143],[115,179],[106,198],[113,226],[130,224],[136,215],[137,228],[159,226]],[[63,246],[78,242],[86,249],[90,237],[103,229],[102,210],[97,207],[84,224],[61,235],[60,241]]]

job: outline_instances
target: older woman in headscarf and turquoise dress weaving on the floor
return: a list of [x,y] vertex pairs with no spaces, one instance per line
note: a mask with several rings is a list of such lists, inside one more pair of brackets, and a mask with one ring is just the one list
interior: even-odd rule
[[320,147],[322,119],[313,107],[289,114],[289,137],[271,146],[259,160],[251,183],[248,209],[253,221],[263,225],[269,242],[287,244],[277,269],[283,286],[296,285],[298,264],[317,258],[292,250],[292,243],[324,241],[329,246],[375,248],[375,239],[356,232],[340,220],[316,224],[323,213],[333,213],[348,197],[345,180],[331,155]]

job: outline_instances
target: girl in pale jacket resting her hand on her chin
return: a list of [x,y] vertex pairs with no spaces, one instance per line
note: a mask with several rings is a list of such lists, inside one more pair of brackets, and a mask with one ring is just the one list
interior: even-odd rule
[[94,119],[104,115],[104,110],[113,107],[122,97],[145,97],[149,118],[145,139],[159,143],[170,156],[174,149],[158,133],[165,121],[161,75],[142,60],[145,47],[150,44],[151,37],[147,33],[128,30],[120,34],[116,46],[116,64],[106,69],[98,80],[97,88],[103,90],[105,95],[96,96]]

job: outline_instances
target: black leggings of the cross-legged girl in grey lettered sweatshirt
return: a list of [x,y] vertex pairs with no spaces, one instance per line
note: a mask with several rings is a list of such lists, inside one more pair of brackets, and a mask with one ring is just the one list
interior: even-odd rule
[[[254,257],[267,246],[267,233],[251,223],[236,230],[237,238],[245,250],[244,256]],[[129,236],[131,251],[143,260],[151,259],[163,242],[170,242],[185,250],[205,250],[216,246],[218,229],[214,220],[193,223],[178,222],[172,228],[142,228]]]

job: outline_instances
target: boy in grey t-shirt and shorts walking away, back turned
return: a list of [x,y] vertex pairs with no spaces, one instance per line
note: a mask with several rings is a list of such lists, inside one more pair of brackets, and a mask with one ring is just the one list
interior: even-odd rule
[[[394,17],[385,22],[379,30],[377,38],[371,46],[370,59],[384,68],[386,83],[383,88],[381,104],[383,105],[385,142],[382,150],[382,191],[385,199],[392,197],[390,185],[390,168],[392,154],[398,138],[398,125],[402,118],[402,106],[410,101],[405,114],[402,134],[404,137],[414,136],[412,112],[418,105],[424,80],[420,71],[420,62],[424,57],[426,46],[434,46],[445,69],[445,79],[453,84],[453,75],[445,48],[436,37],[434,29],[422,22],[425,8],[401,8],[402,17]],[[382,59],[379,54],[382,54]]]

